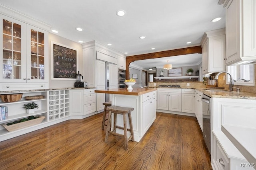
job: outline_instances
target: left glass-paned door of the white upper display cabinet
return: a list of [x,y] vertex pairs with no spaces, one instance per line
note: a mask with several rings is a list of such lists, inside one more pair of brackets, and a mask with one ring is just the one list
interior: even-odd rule
[[0,16],[2,82],[26,82],[26,24]]

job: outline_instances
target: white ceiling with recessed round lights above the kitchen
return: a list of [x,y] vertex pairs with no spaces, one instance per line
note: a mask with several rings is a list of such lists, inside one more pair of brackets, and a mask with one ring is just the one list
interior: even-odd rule
[[[127,56],[196,46],[205,31],[225,27],[225,8],[218,0],[0,0],[0,4],[52,25],[56,35],[75,42],[111,43],[112,49]],[[126,15],[117,16],[117,10]],[[210,22],[216,17],[222,20]],[[146,38],[140,39],[142,35]]]

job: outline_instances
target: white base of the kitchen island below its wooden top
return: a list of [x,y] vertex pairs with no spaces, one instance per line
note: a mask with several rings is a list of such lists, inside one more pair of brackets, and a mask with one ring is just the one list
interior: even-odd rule
[[[134,141],[139,142],[156,119],[156,92],[149,92],[140,96],[113,94],[112,106],[134,108],[131,112]],[[123,116],[117,115],[116,119],[116,125],[123,127]],[[126,120],[126,125],[130,128],[128,115]],[[112,130],[113,122],[114,115],[112,114]],[[116,129],[116,132],[124,134],[122,129]],[[128,131],[128,137],[129,136],[130,132]]]

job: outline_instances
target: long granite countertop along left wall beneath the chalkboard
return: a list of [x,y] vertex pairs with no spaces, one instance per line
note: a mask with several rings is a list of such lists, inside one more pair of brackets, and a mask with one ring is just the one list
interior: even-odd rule
[[36,89],[36,90],[10,90],[10,91],[0,91],[0,94],[9,94],[9,93],[25,93],[25,92],[42,92],[49,90],[72,90],[72,89],[92,89],[95,87],[67,87],[67,88],[48,88],[48,89]]

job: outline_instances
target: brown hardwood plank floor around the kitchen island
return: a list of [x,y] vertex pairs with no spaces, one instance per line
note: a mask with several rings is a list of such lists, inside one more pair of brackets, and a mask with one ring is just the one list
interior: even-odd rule
[[102,113],[0,142],[0,169],[211,170],[196,117],[157,112],[140,142],[109,135]]

